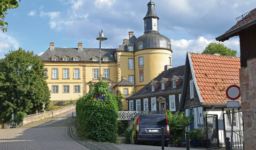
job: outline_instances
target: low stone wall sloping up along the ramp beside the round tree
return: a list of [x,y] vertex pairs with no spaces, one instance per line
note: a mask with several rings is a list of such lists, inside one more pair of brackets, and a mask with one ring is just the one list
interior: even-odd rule
[[28,115],[27,117],[25,117],[23,119],[21,126],[24,126],[24,125],[34,122],[34,121],[50,118],[50,117],[52,117],[52,114],[55,116],[55,115],[70,111],[74,108],[76,108],[76,104],[67,105],[67,106],[52,110],[52,111],[45,112],[45,113],[37,113],[37,114]]

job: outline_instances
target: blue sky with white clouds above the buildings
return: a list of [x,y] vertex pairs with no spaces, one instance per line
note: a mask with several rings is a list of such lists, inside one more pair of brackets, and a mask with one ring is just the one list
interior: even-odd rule
[[[0,32],[0,57],[18,47],[37,54],[49,42],[56,47],[99,46],[98,32],[109,39],[105,48],[117,48],[134,31],[143,32],[143,18],[149,0],[22,0],[19,8],[8,10],[8,31]],[[173,66],[185,64],[186,52],[202,52],[215,37],[235,23],[235,18],[252,10],[256,0],[153,0],[160,18],[159,31],[171,40]],[[238,50],[239,38],[224,42]]]

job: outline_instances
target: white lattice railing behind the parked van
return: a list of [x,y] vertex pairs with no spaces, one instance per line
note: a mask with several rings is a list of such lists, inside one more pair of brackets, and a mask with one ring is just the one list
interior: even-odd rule
[[164,114],[165,111],[118,111],[117,120],[134,120],[139,114],[157,113]]

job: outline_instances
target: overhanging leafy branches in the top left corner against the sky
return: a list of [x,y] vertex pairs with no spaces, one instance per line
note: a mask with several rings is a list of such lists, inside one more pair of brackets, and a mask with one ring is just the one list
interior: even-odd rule
[[[21,0],[19,0],[21,1]],[[4,22],[8,9],[19,7],[17,0],[0,0],[0,30],[7,31],[8,23]]]

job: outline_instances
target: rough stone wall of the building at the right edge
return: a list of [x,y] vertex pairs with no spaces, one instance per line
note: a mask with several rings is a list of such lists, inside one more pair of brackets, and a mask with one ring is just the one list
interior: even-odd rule
[[256,58],[240,68],[240,91],[244,121],[244,148],[256,150]]

